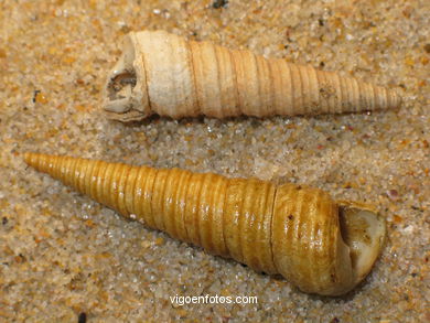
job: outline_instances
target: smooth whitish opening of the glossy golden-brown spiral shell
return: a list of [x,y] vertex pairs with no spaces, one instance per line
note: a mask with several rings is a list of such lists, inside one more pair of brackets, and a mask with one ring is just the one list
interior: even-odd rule
[[338,212],[341,235],[350,247],[355,281],[370,271],[385,239],[385,222],[377,213],[351,205],[341,205]]

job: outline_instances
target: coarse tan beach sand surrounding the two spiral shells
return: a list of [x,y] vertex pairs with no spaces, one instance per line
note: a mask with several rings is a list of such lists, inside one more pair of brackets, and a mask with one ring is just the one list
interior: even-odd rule
[[[428,1],[223,2],[2,1],[0,321],[430,320]],[[142,29],[341,71],[398,88],[404,104],[342,116],[109,121],[107,73],[123,34]],[[305,183],[376,205],[388,239],[352,293],[309,295],[123,219],[26,168],[24,151]],[[206,294],[258,302],[170,301]]]

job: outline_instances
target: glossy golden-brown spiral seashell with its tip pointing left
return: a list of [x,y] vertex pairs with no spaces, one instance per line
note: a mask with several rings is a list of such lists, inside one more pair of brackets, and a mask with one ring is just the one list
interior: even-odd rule
[[39,153],[25,162],[126,217],[309,293],[352,290],[384,243],[375,211],[316,189]]

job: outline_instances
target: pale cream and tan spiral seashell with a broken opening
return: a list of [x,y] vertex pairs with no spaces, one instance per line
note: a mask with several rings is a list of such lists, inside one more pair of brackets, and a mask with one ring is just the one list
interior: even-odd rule
[[120,121],[153,114],[175,119],[343,114],[400,104],[394,89],[164,31],[127,34],[104,91],[104,109]]

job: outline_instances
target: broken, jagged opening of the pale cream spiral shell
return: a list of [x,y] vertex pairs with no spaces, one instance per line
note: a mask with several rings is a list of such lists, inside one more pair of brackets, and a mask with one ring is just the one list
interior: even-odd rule
[[109,74],[105,110],[125,114],[132,108],[133,89],[137,84],[135,56],[135,46],[131,40],[126,37],[122,55]]

